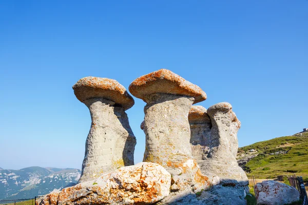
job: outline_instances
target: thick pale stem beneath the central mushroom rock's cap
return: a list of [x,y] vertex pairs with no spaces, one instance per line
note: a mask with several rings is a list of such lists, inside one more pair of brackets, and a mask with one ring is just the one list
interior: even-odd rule
[[162,165],[172,175],[172,192],[198,191],[209,186],[191,156],[188,112],[194,98],[172,94],[151,94],[145,106],[144,161]]

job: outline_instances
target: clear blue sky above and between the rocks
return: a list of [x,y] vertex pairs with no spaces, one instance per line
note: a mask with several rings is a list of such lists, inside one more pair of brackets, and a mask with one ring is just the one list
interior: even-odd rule
[[[169,69],[227,101],[239,146],[308,127],[308,1],[1,1],[0,167],[81,168],[90,128],[72,86],[126,89]],[[145,103],[127,111],[142,160]]]

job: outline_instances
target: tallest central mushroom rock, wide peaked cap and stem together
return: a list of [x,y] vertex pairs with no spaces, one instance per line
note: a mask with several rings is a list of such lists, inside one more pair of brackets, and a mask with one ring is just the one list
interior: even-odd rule
[[205,100],[205,92],[166,69],[137,78],[129,91],[147,103],[143,161],[158,163],[172,174],[172,192],[206,189],[208,178],[191,155],[188,123],[191,105]]

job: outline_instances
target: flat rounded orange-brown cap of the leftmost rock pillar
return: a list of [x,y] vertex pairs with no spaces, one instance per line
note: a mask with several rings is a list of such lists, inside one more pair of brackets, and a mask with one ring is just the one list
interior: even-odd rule
[[102,97],[128,110],[134,105],[134,100],[117,80],[103,77],[84,77],[73,86],[74,94],[82,103],[86,99]]

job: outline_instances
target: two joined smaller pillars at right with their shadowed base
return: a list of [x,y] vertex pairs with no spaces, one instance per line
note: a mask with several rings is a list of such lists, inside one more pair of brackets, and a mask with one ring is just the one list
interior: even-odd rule
[[246,204],[248,179],[235,158],[240,121],[228,103],[206,110],[192,106],[189,111],[190,144],[202,174],[213,187],[202,192],[198,201],[205,204]]

